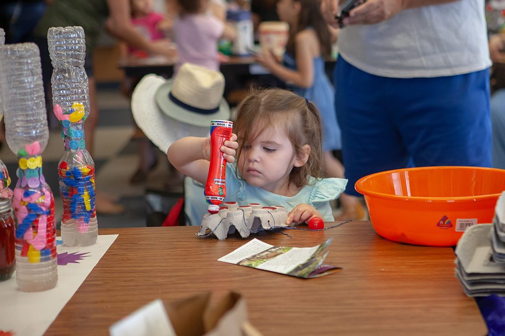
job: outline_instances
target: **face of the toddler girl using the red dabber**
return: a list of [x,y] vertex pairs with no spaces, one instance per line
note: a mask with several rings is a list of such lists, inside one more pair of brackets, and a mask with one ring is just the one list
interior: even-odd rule
[[284,130],[270,126],[254,142],[243,144],[238,169],[250,185],[286,195],[291,169],[304,165],[306,161],[295,155]]

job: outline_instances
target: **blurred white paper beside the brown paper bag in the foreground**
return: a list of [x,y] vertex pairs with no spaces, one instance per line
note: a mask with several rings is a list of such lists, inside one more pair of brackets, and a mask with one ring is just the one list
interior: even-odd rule
[[160,299],[149,302],[114,323],[109,328],[109,333],[111,336],[176,336]]

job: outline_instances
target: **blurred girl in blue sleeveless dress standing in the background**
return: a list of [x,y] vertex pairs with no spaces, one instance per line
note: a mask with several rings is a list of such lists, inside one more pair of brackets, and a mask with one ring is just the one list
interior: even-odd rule
[[[284,65],[264,51],[257,61],[279,77],[298,95],[309,99],[319,108],[323,120],[323,161],[326,175],[343,177],[344,168],[332,151],[341,148],[340,128],[337,123],[334,94],[326,76],[324,56],[331,52],[332,33],[315,0],[280,0],[277,2],[279,18],[290,27],[284,54]],[[336,36],[335,36],[336,38]],[[342,214],[339,220],[360,219],[363,206],[355,196],[342,194]]]

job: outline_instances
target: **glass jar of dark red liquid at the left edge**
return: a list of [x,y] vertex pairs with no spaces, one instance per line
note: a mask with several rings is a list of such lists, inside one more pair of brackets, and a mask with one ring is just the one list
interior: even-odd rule
[[0,198],[0,281],[14,273],[14,213],[10,198]]

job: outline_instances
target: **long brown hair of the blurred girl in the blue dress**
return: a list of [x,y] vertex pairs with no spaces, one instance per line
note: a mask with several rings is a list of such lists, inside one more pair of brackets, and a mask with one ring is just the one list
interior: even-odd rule
[[309,27],[316,31],[319,44],[321,45],[321,54],[329,56],[331,53],[331,34],[326,21],[321,13],[321,0],[293,0],[300,4],[300,15],[296,25],[296,31],[289,32],[286,50],[295,55],[295,35]]

